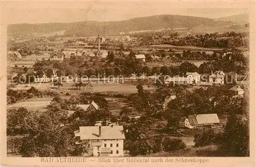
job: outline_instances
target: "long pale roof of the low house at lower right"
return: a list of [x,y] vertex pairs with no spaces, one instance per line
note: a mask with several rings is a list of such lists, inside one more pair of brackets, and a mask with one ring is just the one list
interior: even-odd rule
[[205,125],[205,124],[217,124],[220,123],[217,114],[198,114],[188,116],[190,125]]

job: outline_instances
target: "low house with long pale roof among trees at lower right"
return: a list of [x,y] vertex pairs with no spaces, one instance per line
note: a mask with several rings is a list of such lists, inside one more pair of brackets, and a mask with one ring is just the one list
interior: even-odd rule
[[185,127],[194,128],[215,128],[220,125],[217,114],[195,114],[185,118]]

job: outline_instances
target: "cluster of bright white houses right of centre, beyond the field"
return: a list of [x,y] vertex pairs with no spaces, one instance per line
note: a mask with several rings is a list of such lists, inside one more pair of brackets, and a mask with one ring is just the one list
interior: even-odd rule
[[224,78],[225,74],[223,71],[215,71],[215,73],[211,72],[211,75],[209,75],[209,79],[207,82],[201,81],[201,75],[197,72],[194,73],[186,73],[184,76],[174,76],[174,77],[168,77],[164,80],[165,84],[169,84],[171,82],[175,84],[189,84],[189,85],[206,85],[210,86],[212,84],[216,85],[223,85],[224,84]]

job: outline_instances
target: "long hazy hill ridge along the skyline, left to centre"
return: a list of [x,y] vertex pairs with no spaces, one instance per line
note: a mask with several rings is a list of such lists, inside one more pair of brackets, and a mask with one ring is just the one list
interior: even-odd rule
[[199,25],[211,25],[215,23],[212,18],[182,16],[182,15],[154,15],[137,17],[123,21],[81,21],[71,23],[37,23],[14,24],[7,28],[8,36],[32,35],[33,33],[49,33],[66,30],[65,35],[93,36],[117,35],[120,32],[159,30],[173,28],[191,28]]

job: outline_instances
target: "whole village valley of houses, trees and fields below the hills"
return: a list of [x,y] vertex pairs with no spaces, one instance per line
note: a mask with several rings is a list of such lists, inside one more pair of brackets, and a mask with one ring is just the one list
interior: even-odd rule
[[8,156],[247,156],[248,27],[201,27],[8,36]]

